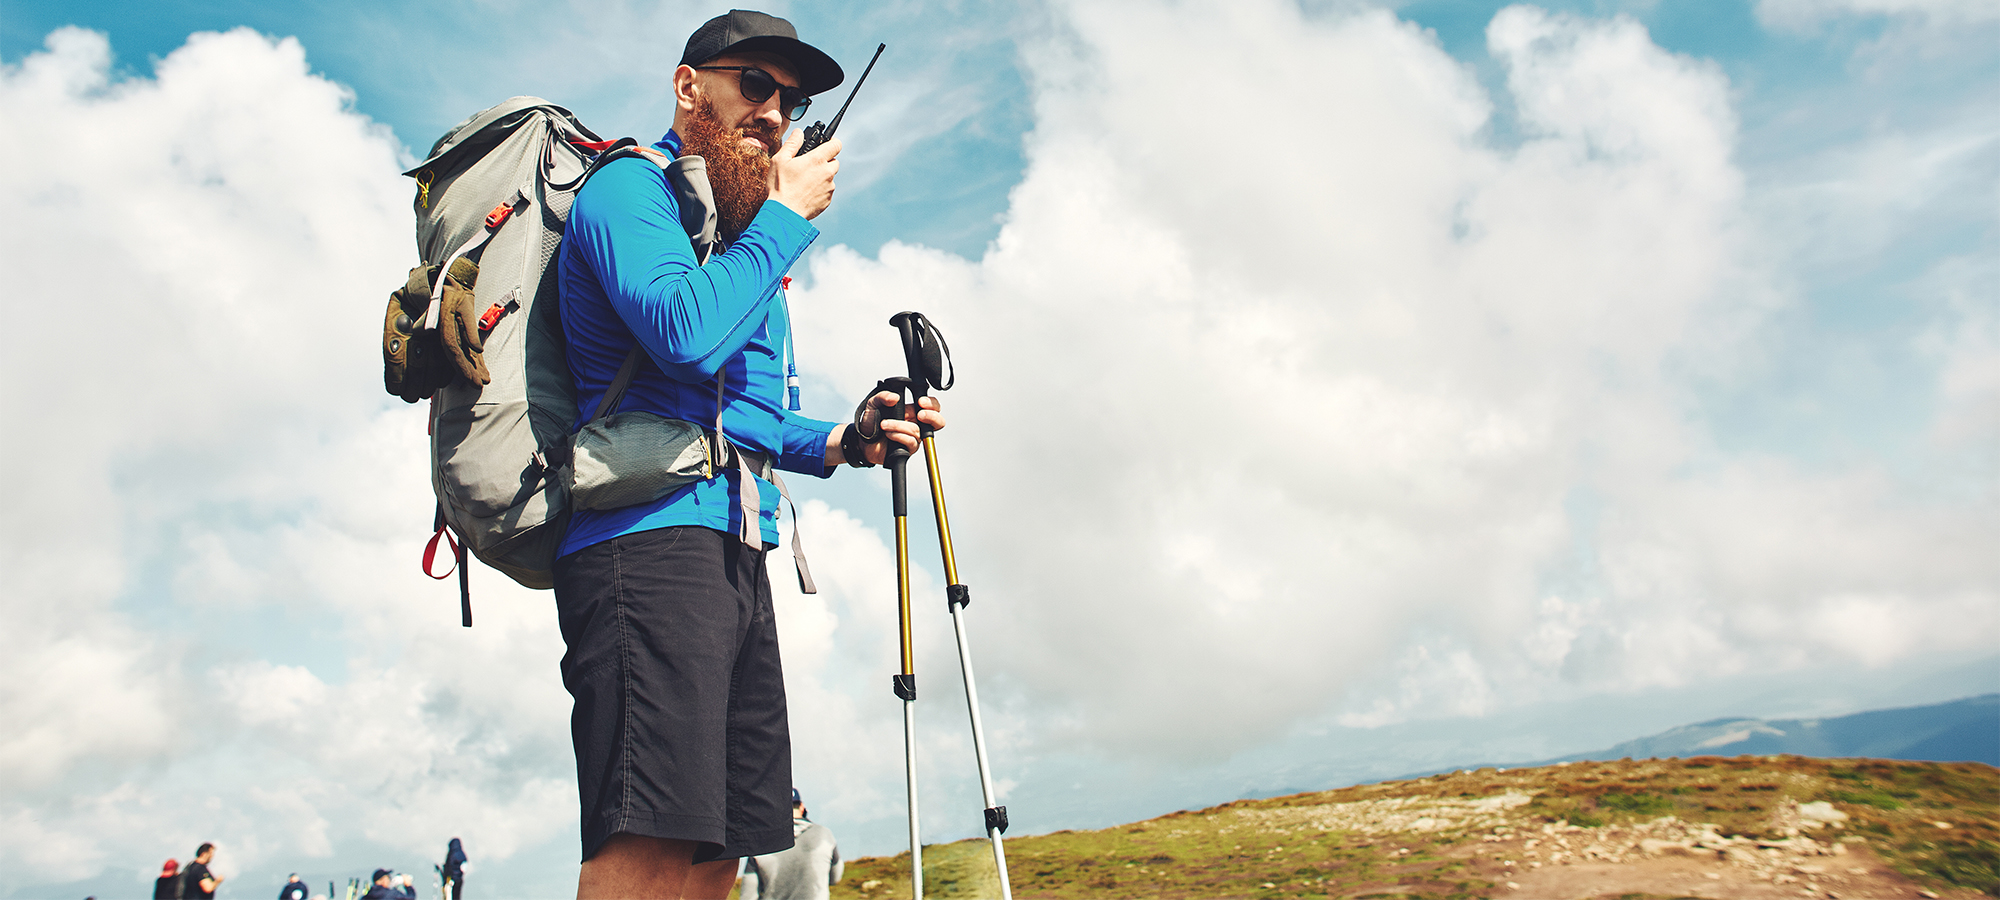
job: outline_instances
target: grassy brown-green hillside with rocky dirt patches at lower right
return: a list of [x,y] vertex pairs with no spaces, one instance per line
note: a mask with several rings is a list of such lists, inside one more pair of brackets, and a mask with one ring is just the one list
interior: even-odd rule
[[[2000,770],[1804,756],[1480,768],[1006,848],[1020,898],[2000,896]],[[926,896],[1000,896],[986,840],[926,846],[924,862]],[[854,860],[834,896],[906,898],[908,868],[908,854]]]

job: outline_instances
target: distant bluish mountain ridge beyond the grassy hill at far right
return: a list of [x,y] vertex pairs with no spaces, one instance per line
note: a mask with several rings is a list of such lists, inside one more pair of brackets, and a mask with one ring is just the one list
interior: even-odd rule
[[2000,766],[2000,694],[1834,718],[1714,718],[1548,762],[1744,754]]

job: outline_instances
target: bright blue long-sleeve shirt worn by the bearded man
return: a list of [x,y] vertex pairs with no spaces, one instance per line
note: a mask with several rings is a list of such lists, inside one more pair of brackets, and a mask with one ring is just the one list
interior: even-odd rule
[[[678,156],[680,136],[668,132],[654,148]],[[780,286],[818,234],[812,222],[766,200],[726,252],[698,266],[660,166],[618,160],[590,176],[570,206],[556,268],[576,380],[572,430],[588,422],[638,342],[646,356],[614,412],[646,410],[714,428],[714,378],[722,372],[722,432],[730,440],[770,454],[786,472],[832,474],[826,436],[834,424],[784,408],[782,350],[790,322]],[[684,524],[736,534],[740,478],[730,470],[650,504],[576,510],[560,554]],[[758,500],[764,544],[776,546],[778,490],[760,484]]]

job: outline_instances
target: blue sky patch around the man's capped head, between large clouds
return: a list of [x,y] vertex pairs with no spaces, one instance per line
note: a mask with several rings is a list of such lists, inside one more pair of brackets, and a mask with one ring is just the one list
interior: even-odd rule
[[[422,156],[468,112],[514,94],[564,102],[606,136],[658,138],[672,124],[662,84],[686,44],[682,24],[700,22],[704,8],[612,4],[598,10],[614,12],[596,16],[632,22],[632,32],[622,34],[616,46],[542,40],[548,50],[532,48],[538,36],[584,30],[578,18],[592,14],[578,6],[522,2],[414,10],[404,4],[320,10],[270,4],[18,4],[0,24],[0,54],[16,60],[40,48],[50,30],[78,24],[112,36],[122,72],[146,74],[150,60],[178,48],[190,32],[248,26],[272,36],[296,36],[316,72],[354,88],[356,112],[394,128],[396,138]],[[900,82],[904,96],[926,88],[948,90],[942,100],[950,106],[946,116],[952,128],[928,134],[928,152],[898,158],[896,178],[868,192],[866,202],[836,212],[842,228],[860,232],[848,240],[870,248],[888,238],[922,240],[978,254],[998,232],[1006,192],[1020,180],[1020,138],[1030,126],[1028,90],[1010,38],[1034,28],[1038,16],[988,4],[884,4],[862,18],[826,4],[772,10],[814,34],[854,74],[860,74],[876,42],[894,44],[884,56],[882,78],[870,84],[872,96],[856,106],[842,130],[860,132],[868,106],[882,110],[896,100],[894,94],[878,94],[884,84]],[[444,32],[454,38],[440,48],[436,34]],[[518,42],[530,42],[530,50]],[[550,52],[556,56],[546,56]],[[548,64],[522,64],[522,56]],[[814,112],[832,116],[844,96],[846,88],[818,98],[824,112]]]

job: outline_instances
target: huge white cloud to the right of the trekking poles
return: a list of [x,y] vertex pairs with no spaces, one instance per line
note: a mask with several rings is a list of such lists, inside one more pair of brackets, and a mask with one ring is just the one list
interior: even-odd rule
[[[894,366],[890,312],[946,330],[960,568],[1046,746],[1218,758],[1362,686],[1390,722],[1994,638],[1960,618],[1994,564],[1946,540],[2000,534],[1988,508],[1734,458],[1694,410],[1690,360],[1738,364],[1772,302],[1718,66],[1504,10],[1502,150],[1472,74],[1380,12],[1066,26],[1028,50],[994,250],[836,248],[794,298],[802,346],[858,350],[806,360],[844,394]],[[1592,588],[1538,614],[1562,574]],[[1902,642],[1784,626],[1882,584]]]

